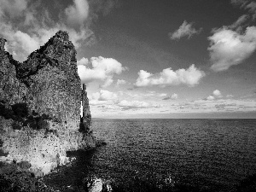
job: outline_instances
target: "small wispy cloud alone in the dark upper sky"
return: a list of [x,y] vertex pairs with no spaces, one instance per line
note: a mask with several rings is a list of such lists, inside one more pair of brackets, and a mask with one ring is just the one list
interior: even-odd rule
[[183,38],[187,36],[188,38],[191,38],[195,34],[199,34],[201,32],[202,28],[199,30],[196,30],[193,27],[193,23],[188,23],[186,20],[183,21],[183,24],[179,26],[179,28],[175,32],[170,32],[169,37],[172,40],[179,40],[180,38]]

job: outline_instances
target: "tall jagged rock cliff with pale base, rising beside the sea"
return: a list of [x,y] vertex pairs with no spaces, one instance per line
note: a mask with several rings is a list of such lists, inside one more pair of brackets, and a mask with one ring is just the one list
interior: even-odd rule
[[57,32],[23,63],[4,51],[5,42],[0,38],[0,156],[8,154],[2,160],[28,161],[40,175],[63,164],[66,151],[95,147],[67,32]]

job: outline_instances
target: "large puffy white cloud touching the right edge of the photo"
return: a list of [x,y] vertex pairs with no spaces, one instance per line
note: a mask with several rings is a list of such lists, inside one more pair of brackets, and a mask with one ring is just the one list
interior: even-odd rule
[[208,50],[212,61],[212,70],[224,71],[247,59],[256,49],[256,27],[248,26],[245,32],[236,32],[228,27],[214,31],[208,38],[211,42]]

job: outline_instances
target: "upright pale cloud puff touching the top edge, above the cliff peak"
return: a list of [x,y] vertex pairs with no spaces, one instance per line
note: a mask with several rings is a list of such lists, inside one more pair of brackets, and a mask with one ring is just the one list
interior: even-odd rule
[[87,0],[73,0],[73,5],[65,9],[67,22],[70,26],[83,25],[89,15],[89,4]]

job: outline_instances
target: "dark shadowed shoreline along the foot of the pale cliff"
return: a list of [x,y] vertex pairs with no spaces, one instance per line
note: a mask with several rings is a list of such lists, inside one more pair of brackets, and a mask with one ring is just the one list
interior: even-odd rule
[[[96,140],[95,148],[88,148],[86,150],[75,150],[67,151],[68,162],[61,166],[56,166],[48,174],[44,176],[36,176],[33,172],[29,170],[29,165],[25,163],[17,163],[13,161],[0,161],[0,191],[15,191],[20,189],[20,191],[62,191],[60,189],[55,189],[54,186],[45,183],[45,178],[51,177],[55,174],[61,174],[61,172],[67,172],[71,170],[76,163],[79,153],[88,154],[97,148],[106,145],[107,143],[103,140]],[[3,159],[3,158],[2,158]],[[75,171],[75,170],[74,170]],[[61,189],[67,188],[62,186]],[[67,188],[68,189],[68,188]],[[76,191],[76,190],[74,190]]]

